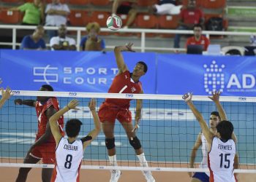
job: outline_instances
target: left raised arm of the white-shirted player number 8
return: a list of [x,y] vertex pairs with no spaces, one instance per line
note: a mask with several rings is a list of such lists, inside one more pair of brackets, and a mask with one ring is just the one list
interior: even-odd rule
[[73,99],[71,100],[67,106],[64,108],[61,108],[58,112],[53,114],[53,116],[50,116],[49,123],[50,123],[50,130],[53,133],[53,137],[56,141],[56,146],[58,146],[59,141],[61,141],[62,135],[61,132],[59,132],[59,125],[58,125],[58,119],[60,119],[67,111],[70,109],[78,110],[76,106],[78,106],[78,100]]

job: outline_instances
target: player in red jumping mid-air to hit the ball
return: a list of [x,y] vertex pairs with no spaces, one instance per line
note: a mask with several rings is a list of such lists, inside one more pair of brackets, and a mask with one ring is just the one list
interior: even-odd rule
[[[121,55],[121,51],[131,51],[132,44],[127,44],[126,46],[115,47],[116,64],[118,66],[118,74],[113,79],[113,83],[108,90],[109,93],[132,93],[132,94],[142,94],[142,84],[140,82],[140,77],[146,74],[148,68],[146,63],[140,61],[136,63],[136,66],[132,73],[129,72],[127,65],[124,63],[124,58]],[[127,137],[129,138],[129,143],[135,149],[135,153],[138,156],[140,165],[143,167],[148,167],[148,162],[145,159],[143,149],[140,145],[140,140],[136,136],[135,129],[138,128],[138,122],[141,117],[142,100],[137,100],[136,104],[136,114],[135,114],[135,127],[132,124],[132,114],[129,111],[128,99],[113,99],[107,98],[102,106],[99,108],[99,119],[102,122],[102,130],[105,134],[105,144],[108,149],[108,157],[110,159],[110,165],[117,166],[116,162],[116,149],[115,149],[115,138],[114,138],[114,128],[115,121],[118,121],[124,127]],[[120,170],[111,170],[110,182],[116,182],[120,178]],[[155,181],[151,175],[151,171],[143,171],[143,175],[146,181]]]

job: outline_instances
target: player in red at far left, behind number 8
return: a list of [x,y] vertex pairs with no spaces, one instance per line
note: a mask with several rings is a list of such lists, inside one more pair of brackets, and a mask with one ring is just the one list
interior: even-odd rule
[[[44,84],[39,91],[53,91],[53,87],[48,84]],[[38,117],[38,132],[36,140],[26,154],[23,163],[36,164],[40,159],[42,159],[42,163],[44,164],[54,164],[56,142],[50,131],[50,124],[48,121],[50,116],[53,116],[53,114],[59,111],[59,101],[54,97],[38,96],[37,100],[16,99],[15,104],[35,107]],[[64,136],[64,131],[62,130],[64,126],[63,116],[58,120],[58,124],[61,135]],[[16,181],[26,181],[30,170],[30,167],[20,167]],[[42,181],[50,182],[52,173],[52,168],[42,168]]]

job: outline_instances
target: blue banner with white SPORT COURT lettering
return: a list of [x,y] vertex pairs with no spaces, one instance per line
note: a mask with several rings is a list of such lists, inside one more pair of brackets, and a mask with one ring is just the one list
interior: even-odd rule
[[[122,52],[129,71],[143,60],[148,65],[142,76],[145,93],[156,90],[156,54]],[[118,73],[113,52],[65,52],[0,50],[0,78],[12,90],[39,90],[50,84],[55,91],[108,92]]]

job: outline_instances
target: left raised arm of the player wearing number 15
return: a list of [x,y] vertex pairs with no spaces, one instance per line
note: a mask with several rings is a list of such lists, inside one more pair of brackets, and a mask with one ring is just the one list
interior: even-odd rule
[[195,118],[199,122],[200,127],[201,127],[202,132],[203,132],[203,135],[206,137],[206,141],[208,143],[208,150],[210,150],[211,149],[210,147],[211,147],[211,143],[212,143],[212,138],[214,137],[214,135],[209,130],[209,128],[206,124],[206,121],[203,119],[202,114],[200,114],[200,112],[197,111],[197,108],[195,108],[194,104],[192,103],[192,94],[191,93],[184,94],[182,98],[186,101],[187,106],[189,106],[192,113],[195,115]]

